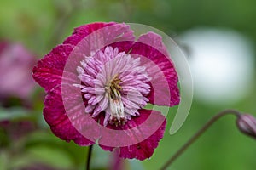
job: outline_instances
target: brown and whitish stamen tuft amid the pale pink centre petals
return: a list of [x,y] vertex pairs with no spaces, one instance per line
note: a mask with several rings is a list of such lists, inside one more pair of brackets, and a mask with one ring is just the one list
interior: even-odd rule
[[116,127],[124,125],[127,121],[125,118],[125,107],[120,94],[120,90],[122,90],[122,87],[119,85],[120,82],[122,81],[118,78],[118,75],[115,75],[106,87],[111,111],[108,122]]

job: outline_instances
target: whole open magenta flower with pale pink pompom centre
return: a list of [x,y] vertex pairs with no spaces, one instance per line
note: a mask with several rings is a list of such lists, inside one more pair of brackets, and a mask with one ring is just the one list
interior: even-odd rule
[[47,96],[44,118],[55,135],[99,144],[122,158],[152,156],[166,117],[145,105],[179,103],[177,72],[161,37],[136,40],[130,26],[92,23],[38,61],[33,78]]

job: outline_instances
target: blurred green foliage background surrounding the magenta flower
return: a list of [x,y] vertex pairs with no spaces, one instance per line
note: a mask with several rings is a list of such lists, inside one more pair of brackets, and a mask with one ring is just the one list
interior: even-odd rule
[[[254,0],[0,0],[0,39],[20,42],[40,59],[69,36],[74,27],[95,21],[140,23],[166,32],[193,59],[190,54],[193,49],[185,41],[179,40],[179,37],[191,29],[207,27],[236,31],[245,37],[253,51],[252,62],[255,65],[255,6]],[[253,65],[250,66],[255,75]],[[165,137],[154,155],[147,161],[126,160],[124,169],[160,168],[218,111],[233,108],[255,116],[255,77],[250,77],[247,83],[250,83],[249,86],[243,88],[249,87],[249,93],[241,98],[236,97],[236,102],[209,103],[197,98],[195,94],[188,119],[171,136],[168,131],[177,107],[174,108],[167,116]],[[37,87],[28,96],[26,106],[15,96],[8,99],[8,104],[6,99],[2,101],[1,121],[10,121],[15,126],[20,121],[32,122],[32,132],[14,139],[10,133],[20,132],[20,127],[0,127],[0,169],[84,169],[87,148],[81,148],[73,142],[67,144],[49,131],[42,116],[43,98],[43,89]],[[254,170],[255,140],[241,134],[236,129],[235,121],[233,116],[222,118],[179,157],[170,169]],[[108,169],[112,157],[108,152],[95,147],[92,169]]]

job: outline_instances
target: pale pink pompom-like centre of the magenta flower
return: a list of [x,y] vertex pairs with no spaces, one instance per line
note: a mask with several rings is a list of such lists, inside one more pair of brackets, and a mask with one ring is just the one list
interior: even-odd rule
[[77,67],[84,99],[85,112],[92,117],[105,114],[104,126],[122,126],[138,110],[147,105],[150,92],[146,67],[139,58],[120,52],[118,48],[107,47],[84,57],[82,66]]

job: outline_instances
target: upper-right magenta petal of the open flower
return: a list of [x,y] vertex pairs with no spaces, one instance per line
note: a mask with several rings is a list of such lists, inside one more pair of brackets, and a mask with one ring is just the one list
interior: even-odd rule
[[[156,105],[178,105],[180,98],[177,88],[177,72],[168,56],[168,52],[161,37],[154,32],[148,32],[142,35],[132,46],[131,54],[146,57],[150,61],[153,61],[154,65],[157,65],[160,70],[155,72],[154,66],[148,67],[148,74],[153,78],[151,81],[153,89],[148,95],[149,102]],[[157,77],[157,74],[164,76]]]

